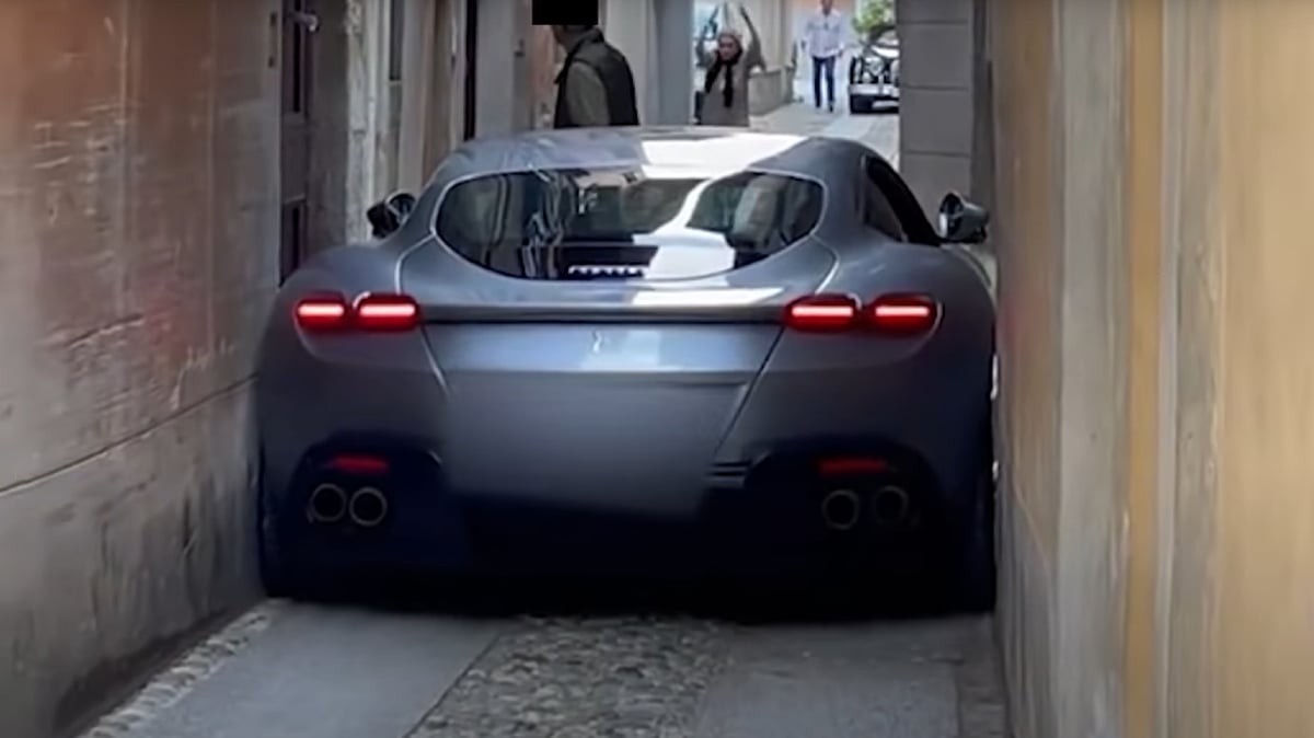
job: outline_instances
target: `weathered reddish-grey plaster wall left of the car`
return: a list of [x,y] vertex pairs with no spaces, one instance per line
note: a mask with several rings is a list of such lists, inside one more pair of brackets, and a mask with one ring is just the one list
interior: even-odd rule
[[0,4],[5,738],[67,733],[255,594],[246,387],[277,272],[276,9]]

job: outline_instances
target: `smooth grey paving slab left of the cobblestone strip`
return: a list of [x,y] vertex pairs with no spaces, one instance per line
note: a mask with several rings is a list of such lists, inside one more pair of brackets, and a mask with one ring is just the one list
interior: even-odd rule
[[184,658],[87,738],[397,738],[505,625],[310,605],[267,620],[209,649],[213,663]]

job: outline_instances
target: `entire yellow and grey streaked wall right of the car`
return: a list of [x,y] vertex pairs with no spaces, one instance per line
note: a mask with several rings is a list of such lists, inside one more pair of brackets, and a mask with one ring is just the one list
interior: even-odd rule
[[995,5],[1024,738],[1314,735],[1314,4]]

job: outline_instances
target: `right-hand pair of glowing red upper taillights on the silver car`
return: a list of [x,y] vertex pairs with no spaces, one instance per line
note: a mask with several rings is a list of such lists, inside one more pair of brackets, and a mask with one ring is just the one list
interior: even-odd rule
[[867,305],[844,294],[819,294],[791,303],[784,324],[798,331],[920,334],[934,327],[940,306],[921,294],[883,295]]

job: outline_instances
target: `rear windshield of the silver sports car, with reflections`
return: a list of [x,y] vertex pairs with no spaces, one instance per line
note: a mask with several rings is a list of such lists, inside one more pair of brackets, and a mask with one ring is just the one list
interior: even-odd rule
[[486,269],[530,280],[692,278],[803,239],[824,189],[798,177],[643,169],[509,172],[463,181],[438,236]]

